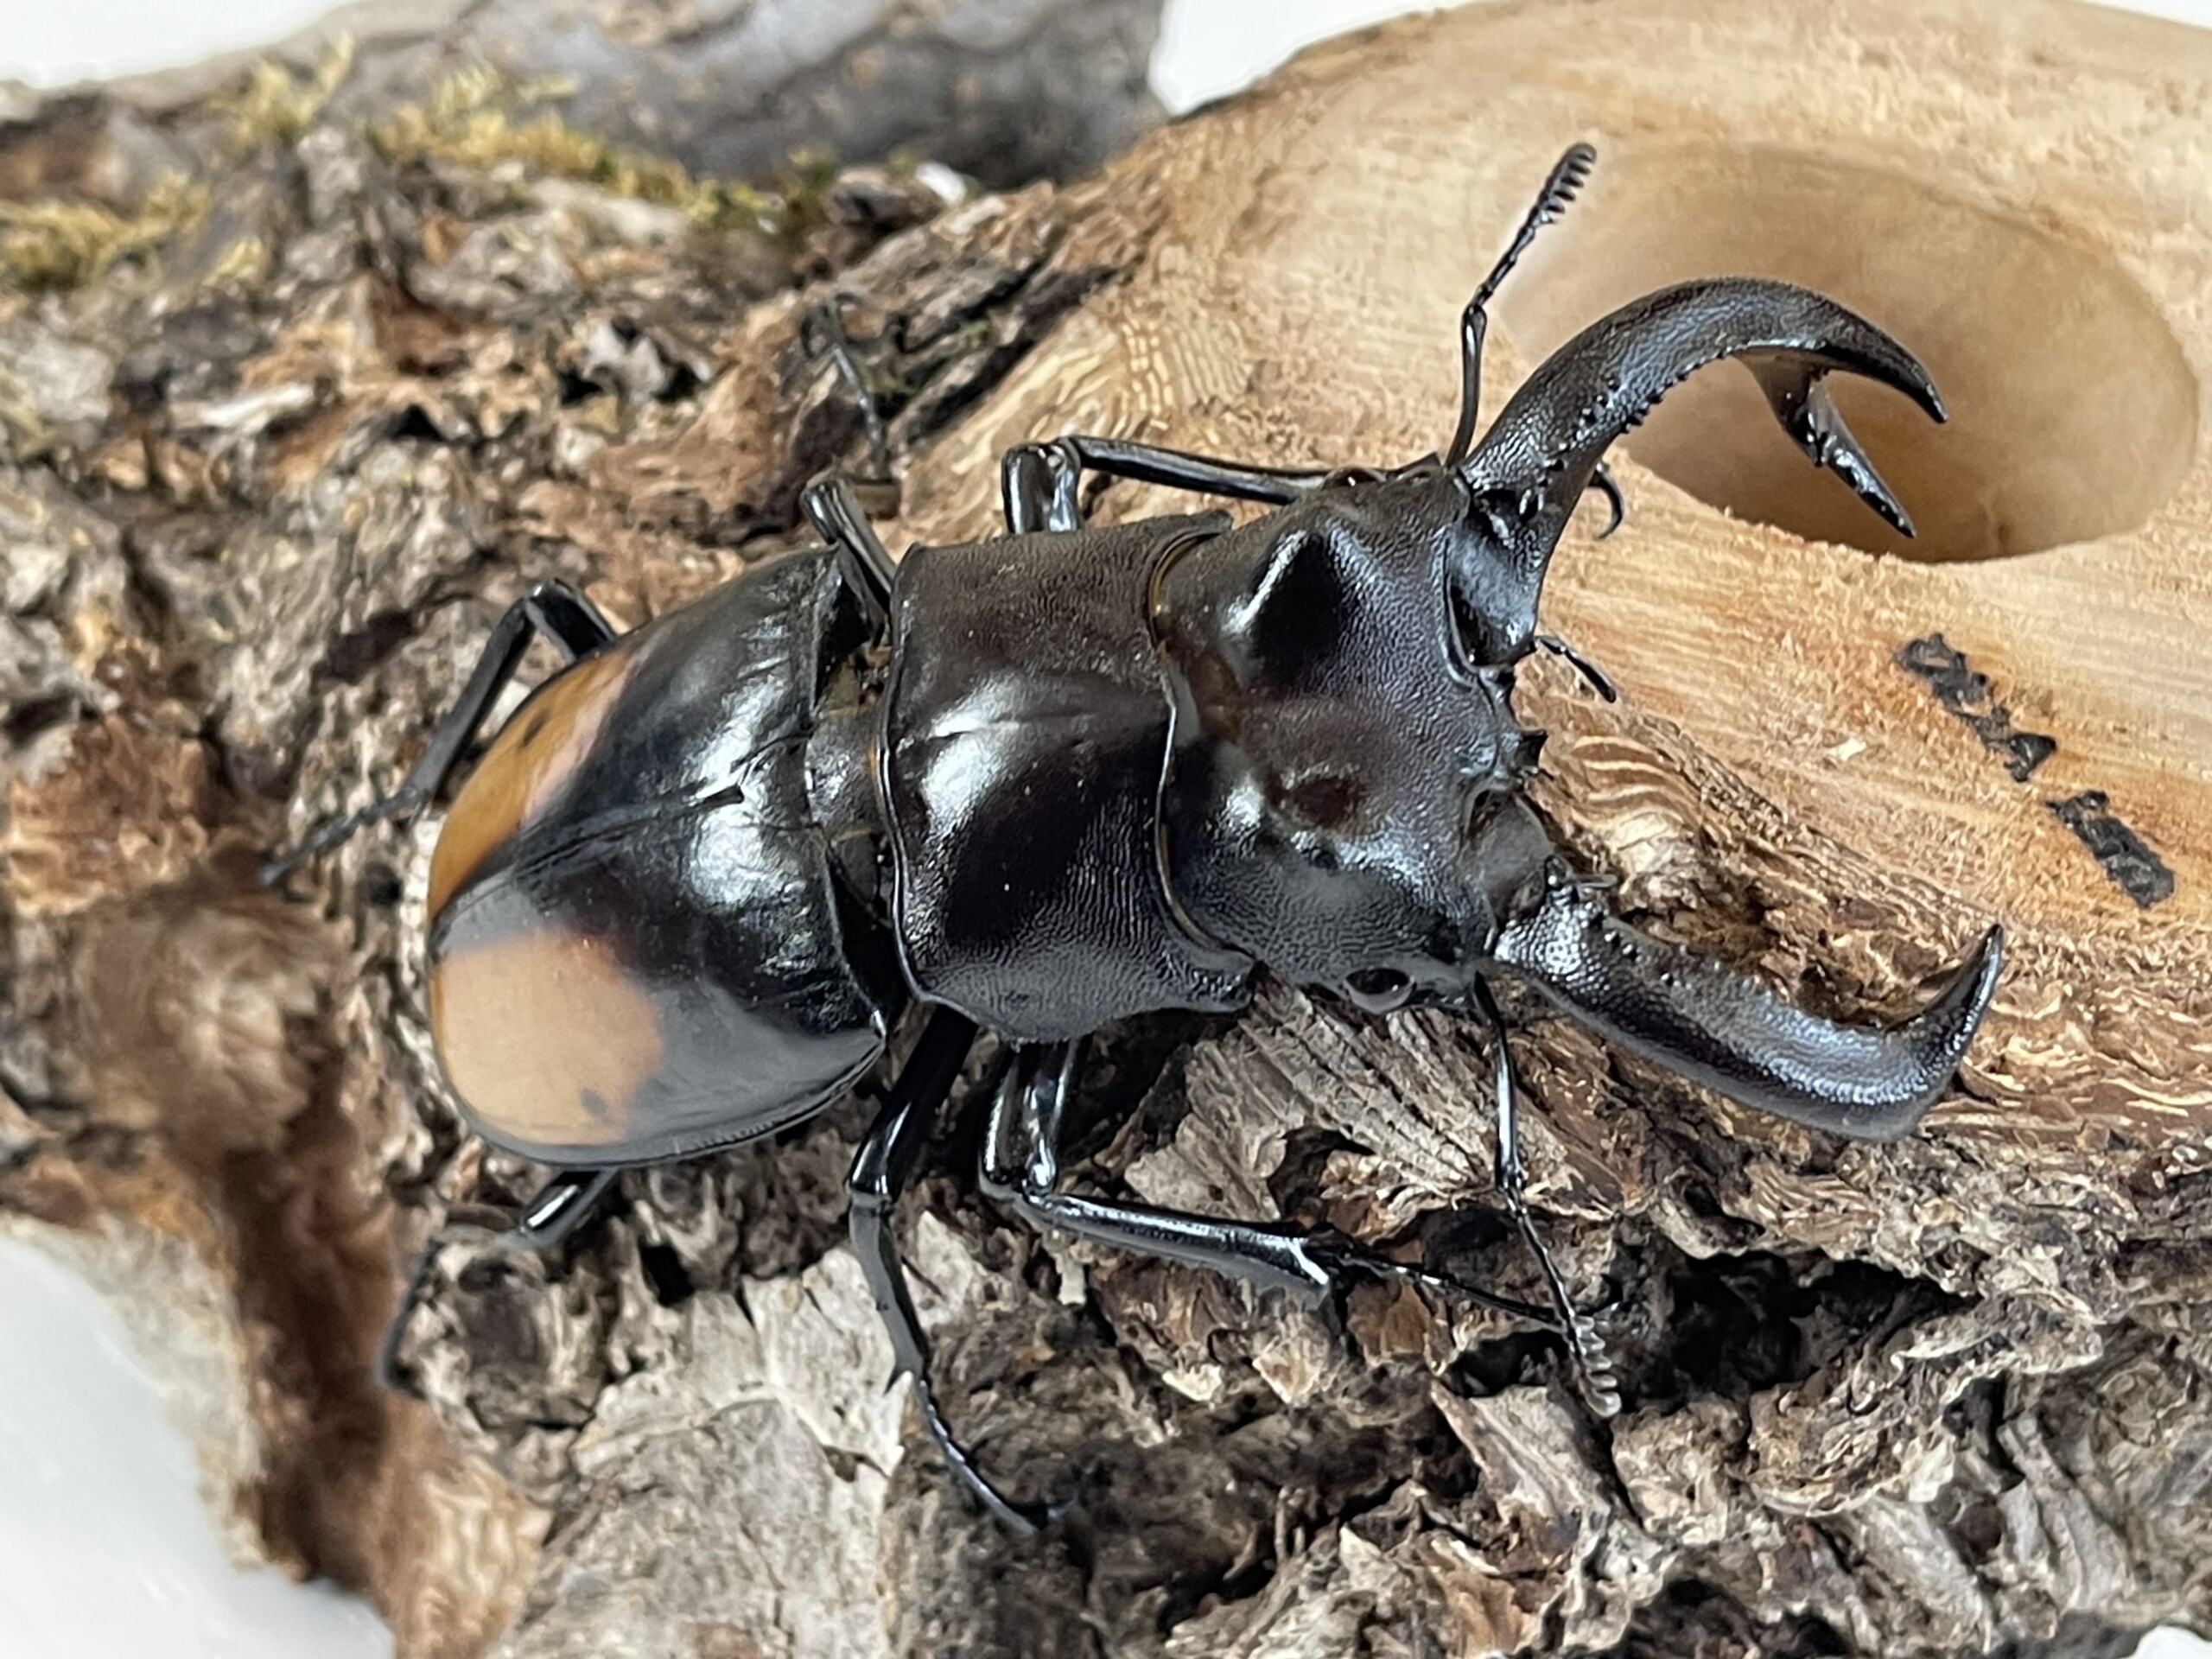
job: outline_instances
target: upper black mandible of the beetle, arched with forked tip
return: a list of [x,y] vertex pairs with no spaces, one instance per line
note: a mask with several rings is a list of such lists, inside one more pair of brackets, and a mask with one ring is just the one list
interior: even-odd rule
[[1661,288],[1553,352],[1460,465],[1504,568],[1455,573],[1482,644],[1511,659],[1535,628],[1544,566],[1615,438],[1710,363],[1743,358],[1790,438],[1905,535],[1911,518],[1843,422],[1823,380],[1843,369],[1902,392],[1931,420],[1944,405],[1898,341],[1836,301],[1763,276]]

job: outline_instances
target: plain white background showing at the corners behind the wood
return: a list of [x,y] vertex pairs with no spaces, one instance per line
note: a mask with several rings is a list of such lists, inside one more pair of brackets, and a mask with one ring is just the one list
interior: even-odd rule
[[[38,86],[188,64],[281,38],[325,0],[0,0],[0,80]],[[1168,0],[1152,84],[1172,111],[1237,91],[1298,46],[1420,11],[1405,0]],[[2212,0],[2137,0],[2212,27]],[[1593,18],[1597,27],[1597,18]],[[115,1314],[0,1241],[0,1652],[13,1659],[383,1659],[361,1606],[234,1573]],[[2212,1659],[2157,1632],[2141,1659]]]

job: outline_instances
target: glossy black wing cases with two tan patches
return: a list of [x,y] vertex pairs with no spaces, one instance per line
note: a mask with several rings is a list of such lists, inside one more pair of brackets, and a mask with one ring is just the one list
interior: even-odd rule
[[821,1110],[902,1002],[807,803],[858,622],[799,553],[540,688],[431,863],[431,1029],[471,1126],[546,1164],[641,1164]]

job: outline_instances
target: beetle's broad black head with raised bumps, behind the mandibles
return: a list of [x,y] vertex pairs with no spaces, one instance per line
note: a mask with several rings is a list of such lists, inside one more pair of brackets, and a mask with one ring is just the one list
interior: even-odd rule
[[1170,889],[1208,936],[1363,1006],[1458,1002],[1548,841],[1517,801],[1540,734],[1473,670],[1436,467],[1318,491],[1188,546],[1152,626],[1175,701]]

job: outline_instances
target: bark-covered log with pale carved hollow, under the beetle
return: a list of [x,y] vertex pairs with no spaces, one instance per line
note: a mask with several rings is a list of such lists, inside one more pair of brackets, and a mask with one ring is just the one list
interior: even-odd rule
[[[389,787],[524,580],[622,622],[679,604],[787,544],[796,484],[860,434],[790,246],[392,166],[334,122],[226,190],[305,204],[263,283],[192,276],[228,241],[186,232],[161,281],[126,259],[0,323],[0,1201],[117,1261],[188,1245],[157,1283],[201,1285],[257,1376],[257,1522],[367,1582],[409,1652],[509,1615],[504,1655],[710,1659],[2028,1655],[2203,1626],[2208,135],[2212,44],[2108,13],[1506,4],[1310,55],[1097,184],[891,234],[929,212],[891,177],[787,206],[818,226],[799,263],[854,296],[911,540],[984,533],[998,449],[1060,429],[1433,447],[1464,290],[1575,137],[1608,173],[1515,279],[1495,383],[1703,261],[1836,290],[1953,392],[1940,442],[1847,400],[1949,562],[1776,529],[1843,533],[1728,449],[1763,416],[1714,394],[1630,440],[1628,529],[1555,566],[1546,624],[1626,699],[1531,672],[1542,799],[1626,911],[1849,1015],[2013,929],[1960,1086],[1891,1148],[1515,1009],[1535,1199],[1617,1303],[1617,1422],[1486,1316],[1380,1287],[1307,1316],[1040,1239],[956,1146],[909,1206],[940,1387],[1006,1484],[1082,1498],[1015,1542],[880,1387],[841,1245],[865,1102],[626,1177],[555,1261],[491,1245],[531,1170],[460,1135],[429,1060],[436,825],[358,838],[292,902],[250,854]],[[1276,987],[1110,1033],[1075,1179],[1528,1294],[1486,1208],[1486,1075],[1464,1026]],[[416,1411],[361,1367],[431,1239]]]

